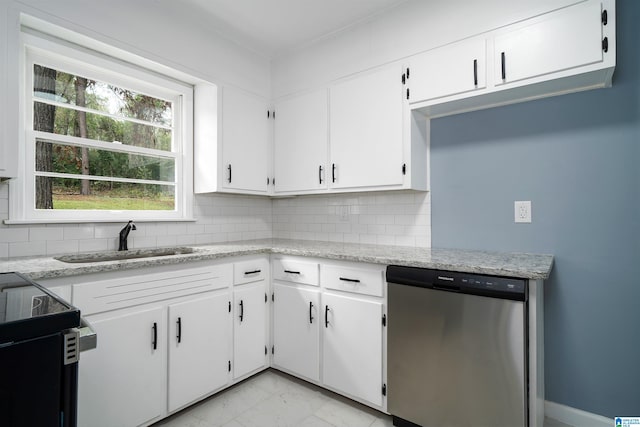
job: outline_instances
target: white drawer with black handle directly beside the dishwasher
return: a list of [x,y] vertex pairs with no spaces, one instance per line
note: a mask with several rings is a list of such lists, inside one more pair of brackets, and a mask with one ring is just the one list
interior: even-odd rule
[[320,276],[326,289],[381,297],[384,289],[384,266],[322,265]]

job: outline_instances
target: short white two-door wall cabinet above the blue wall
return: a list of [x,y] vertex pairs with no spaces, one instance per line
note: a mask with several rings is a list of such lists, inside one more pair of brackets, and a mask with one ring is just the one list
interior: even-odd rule
[[587,0],[415,55],[411,108],[433,118],[611,86],[615,15],[615,0]]

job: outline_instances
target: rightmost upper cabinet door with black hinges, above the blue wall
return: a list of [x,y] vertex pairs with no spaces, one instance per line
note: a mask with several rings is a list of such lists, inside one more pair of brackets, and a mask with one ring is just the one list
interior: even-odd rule
[[600,13],[599,2],[579,4],[496,36],[496,85],[601,62]]

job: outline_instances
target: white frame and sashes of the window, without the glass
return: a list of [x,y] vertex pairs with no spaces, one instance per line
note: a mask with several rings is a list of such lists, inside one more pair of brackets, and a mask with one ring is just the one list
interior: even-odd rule
[[[174,147],[171,152],[163,155],[166,154],[167,158],[175,158],[174,210],[35,209],[35,139],[38,136],[45,139],[51,138],[46,138],[46,133],[33,130],[34,63],[173,102]],[[193,220],[193,86],[28,29],[20,34],[20,67],[18,156],[20,172],[19,177],[10,183],[8,223]],[[106,147],[99,141],[92,142],[92,140],[72,136],[56,135],[55,139],[71,144],[82,143],[84,146],[94,148]],[[133,154],[149,154],[144,148],[132,146],[118,147],[114,144],[108,149]],[[60,174],[51,174],[51,176],[58,175]]]

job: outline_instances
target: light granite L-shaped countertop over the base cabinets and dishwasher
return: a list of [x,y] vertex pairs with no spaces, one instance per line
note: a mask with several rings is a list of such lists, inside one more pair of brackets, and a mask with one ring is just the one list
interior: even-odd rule
[[51,256],[10,258],[0,260],[0,272],[17,271],[33,280],[38,280],[261,253],[403,265],[523,279],[547,279],[553,266],[553,256],[544,254],[430,249],[307,240],[265,239],[189,247],[193,248],[193,253],[73,264],[58,261]]

